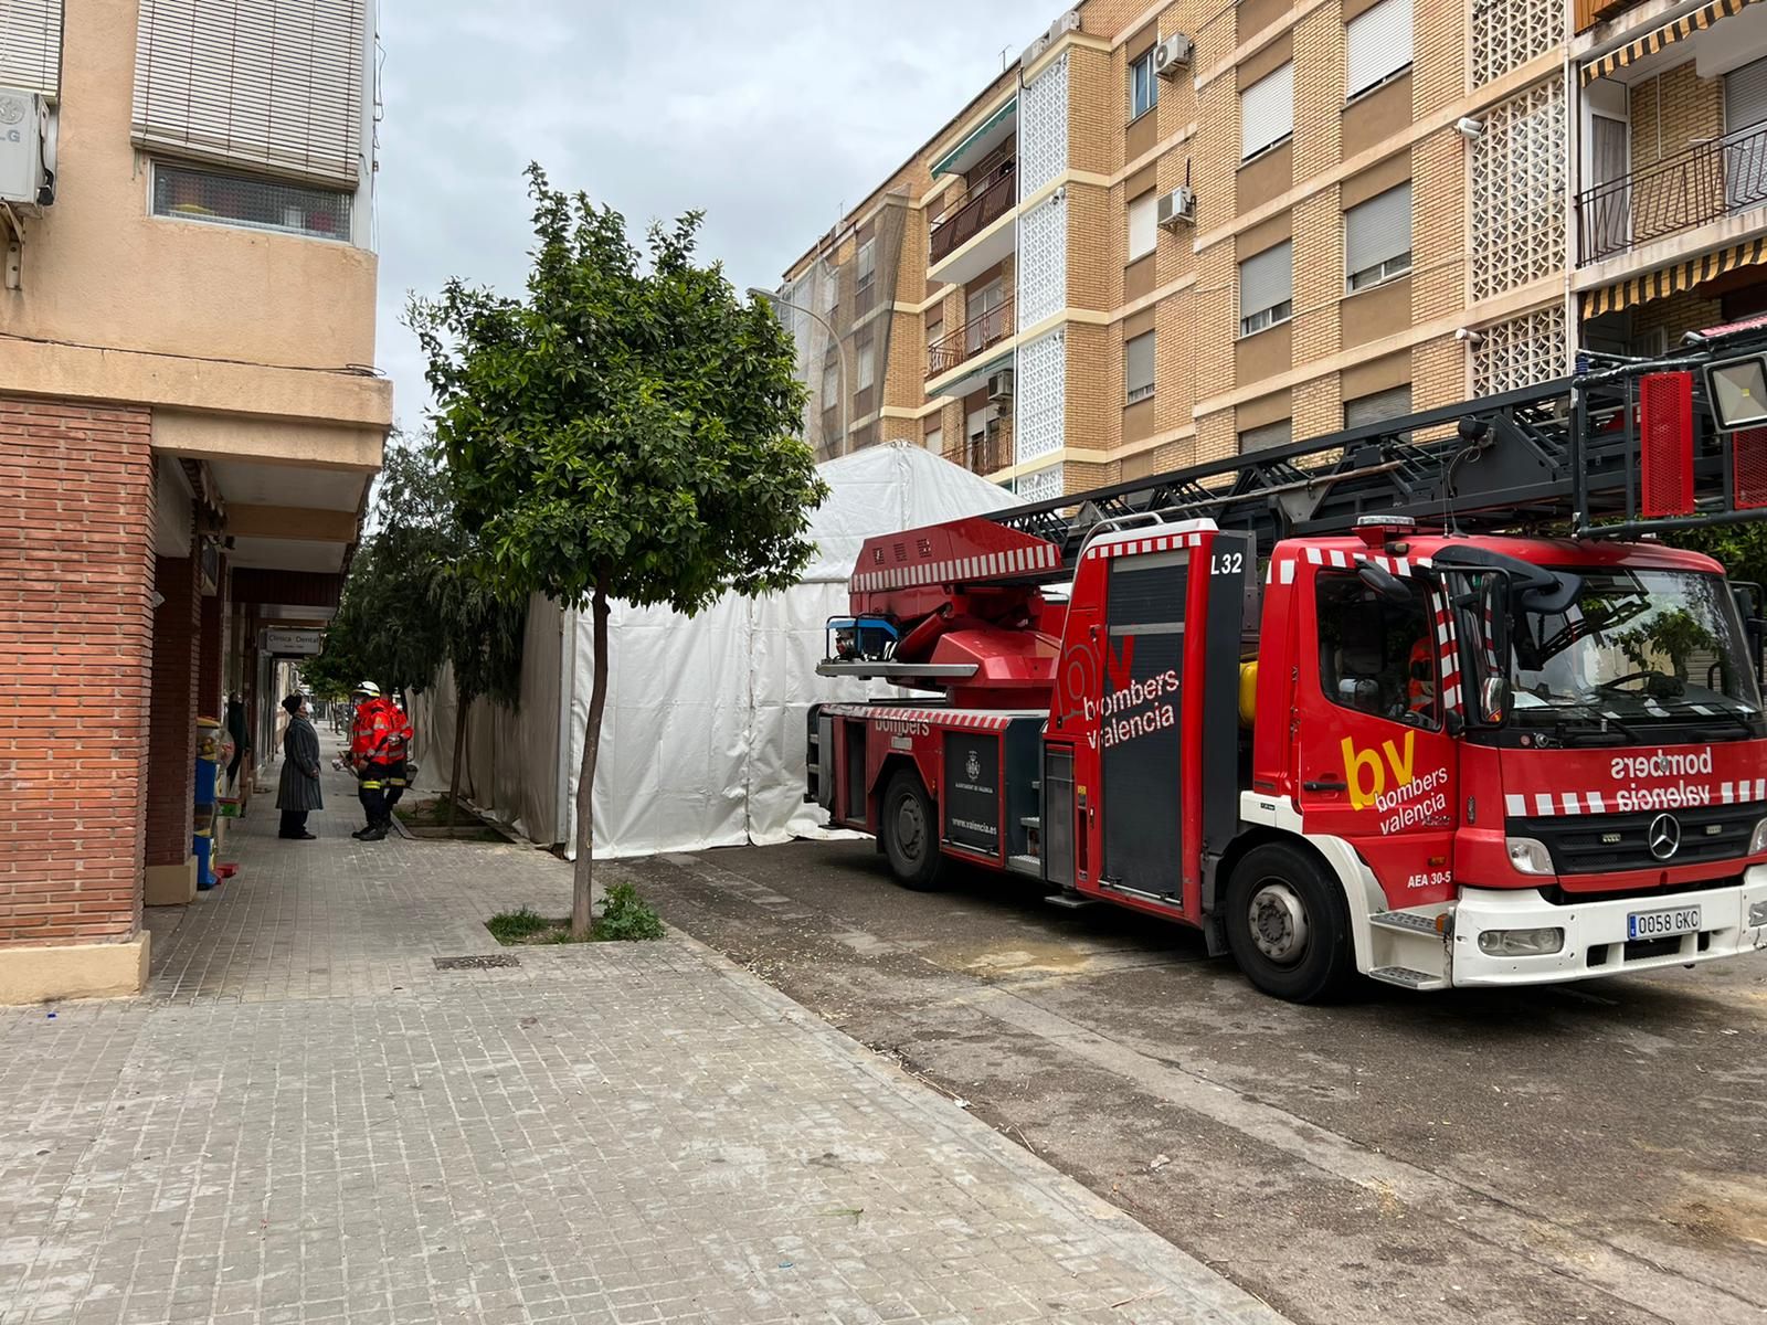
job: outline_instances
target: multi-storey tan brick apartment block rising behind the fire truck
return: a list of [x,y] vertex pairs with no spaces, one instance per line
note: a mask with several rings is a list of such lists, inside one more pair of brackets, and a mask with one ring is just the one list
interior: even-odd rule
[[1039,500],[1755,311],[1758,26],[1755,0],[1083,0],[786,272],[808,431]]

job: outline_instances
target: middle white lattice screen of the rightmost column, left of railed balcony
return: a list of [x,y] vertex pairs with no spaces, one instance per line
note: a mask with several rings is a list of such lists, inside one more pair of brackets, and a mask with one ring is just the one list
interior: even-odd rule
[[1562,78],[1484,113],[1472,145],[1474,300],[1564,270],[1567,122]]

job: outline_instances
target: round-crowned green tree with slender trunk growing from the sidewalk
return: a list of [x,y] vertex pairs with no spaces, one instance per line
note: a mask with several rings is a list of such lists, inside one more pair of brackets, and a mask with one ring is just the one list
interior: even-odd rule
[[461,521],[497,579],[581,610],[594,682],[576,793],[571,933],[588,935],[594,783],[613,599],[693,615],[726,592],[792,585],[827,495],[800,438],[795,346],[772,311],[696,263],[700,214],[626,219],[528,168],[532,269],[523,299],[449,281],[413,300],[436,442]]

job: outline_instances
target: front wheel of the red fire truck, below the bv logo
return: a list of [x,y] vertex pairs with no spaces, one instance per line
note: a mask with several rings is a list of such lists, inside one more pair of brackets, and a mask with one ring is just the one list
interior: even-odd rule
[[1276,998],[1316,1003],[1355,979],[1338,880],[1285,843],[1255,846],[1226,885],[1226,936],[1246,977]]

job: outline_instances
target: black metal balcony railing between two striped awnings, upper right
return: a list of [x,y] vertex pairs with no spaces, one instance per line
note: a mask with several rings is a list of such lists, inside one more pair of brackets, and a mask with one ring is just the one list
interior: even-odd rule
[[1580,261],[1601,261],[1762,203],[1767,124],[1751,124],[1578,194]]

